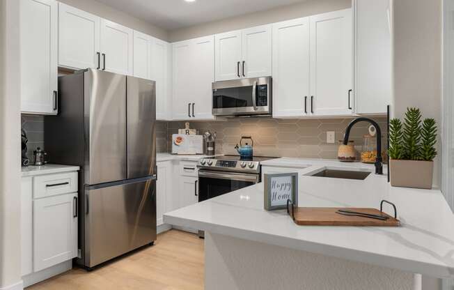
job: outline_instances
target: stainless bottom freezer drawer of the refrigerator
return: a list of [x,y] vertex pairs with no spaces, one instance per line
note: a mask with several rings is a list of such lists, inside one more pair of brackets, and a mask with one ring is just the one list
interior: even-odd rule
[[156,240],[154,178],[86,186],[85,195],[85,266],[92,268]]

